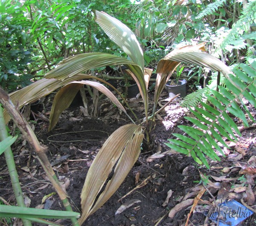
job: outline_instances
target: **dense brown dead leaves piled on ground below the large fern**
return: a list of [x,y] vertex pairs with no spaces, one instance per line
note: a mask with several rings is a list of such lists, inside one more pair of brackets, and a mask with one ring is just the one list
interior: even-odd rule
[[[245,206],[244,208],[248,211],[255,213],[256,210],[253,205],[256,201],[256,156],[252,155],[247,162],[244,162],[244,157],[253,153],[253,151],[250,152],[251,148],[255,149],[256,138],[251,135],[249,134],[246,138],[241,137],[240,142],[226,142],[230,147],[230,149],[225,149],[226,159],[219,163],[220,166],[216,166],[217,162],[211,162],[212,167],[207,177],[201,174],[201,183],[188,189],[187,194],[176,200],[176,205],[169,211],[169,217],[173,218],[182,209],[188,208],[190,213],[186,218],[187,223],[184,224],[188,225],[191,214],[205,213],[206,210],[210,209],[216,210],[225,200],[237,200],[241,206]],[[222,148],[225,147],[222,146]],[[147,162],[154,162],[156,159],[170,154],[175,153],[172,150],[158,151],[149,156]],[[183,170],[183,175],[185,176],[183,181],[186,183],[187,177],[190,175],[188,168]],[[162,206],[168,205],[170,196],[175,197],[175,191],[168,191]],[[209,220],[208,218],[206,217],[206,221]]]

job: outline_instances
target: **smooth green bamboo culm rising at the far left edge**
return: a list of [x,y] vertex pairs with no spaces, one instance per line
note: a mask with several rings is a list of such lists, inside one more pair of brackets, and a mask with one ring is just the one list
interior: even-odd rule
[[[6,130],[6,125],[5,125],[5,121],[3,118],[3,108],[2,108],[2,105],[0,104],[0,140],[3,141],[8,136],[9,135]],[[20,181],[19,181],[19,177],[18,177],[17,170],[15,167],[15,161],[13,159],[13,153],[12,153],[11,147],[8,147],[6,149],[6,151],[4,152],[4,155],[5,155],[9,175],[11,177],[12,188],[13,188],[13,191],[15,194],[15,199],[17,201],[17,204],[20,207],[26,207],[26,205],[24,203],[24,198],[23,198],[23,194],[21,191]],[[22,219],[22,222],[23,222],[23,225],[32,226],[32,223],[30,220]]]

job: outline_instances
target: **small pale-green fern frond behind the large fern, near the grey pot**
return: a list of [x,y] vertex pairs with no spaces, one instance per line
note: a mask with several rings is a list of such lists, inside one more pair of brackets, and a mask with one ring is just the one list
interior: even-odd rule
[[185,96],[183,100],[180,103],[181,107],[195,107],[198,106],[199,102],[203,99],[204,93],[207,93],[209,89],[207,87],[196,90],[193,93],[190,93],[189,95]]

